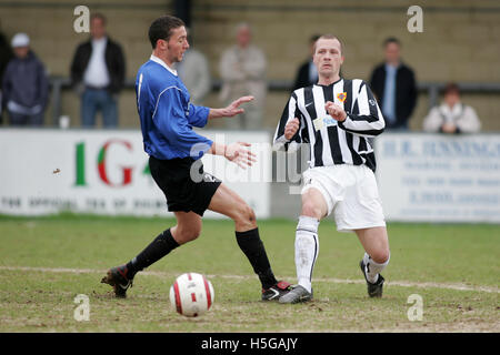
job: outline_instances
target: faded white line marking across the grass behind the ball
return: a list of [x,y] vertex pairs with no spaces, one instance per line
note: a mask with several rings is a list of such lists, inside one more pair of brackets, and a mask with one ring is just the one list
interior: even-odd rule
[[[0,271],[32,271],[42,273],[70,273],[70,274],[102,274],[107,273],[108,270],[98,268],[72,268],[72,267],[32,267],[32,266],[0,266]],[[173,277],[177,273],[168,273],[161,271],[143,271],[141,275],[149,276],[160,276],[160,277]],[[207,277],[221,277],[231,280],[250,280],[253,275],[207,275]],[[292,277],[286,277],[292,278]],[[330,278],[320,277],[314,278],[314,282],[330,282],[336,284],[364,284],[364,280],[348,280],[348,278]],[[469,286],[464,284],[452,284],[452,283],[436,283],[436,282],[408,282],[408,281],[388,281],[389,286],[400,286],[400,287],[419,287],[419,288],[443,288],[453,291],[474,291],[474,292],[488,292],[488,293],[500,293],[500,290],[494,286]]]

